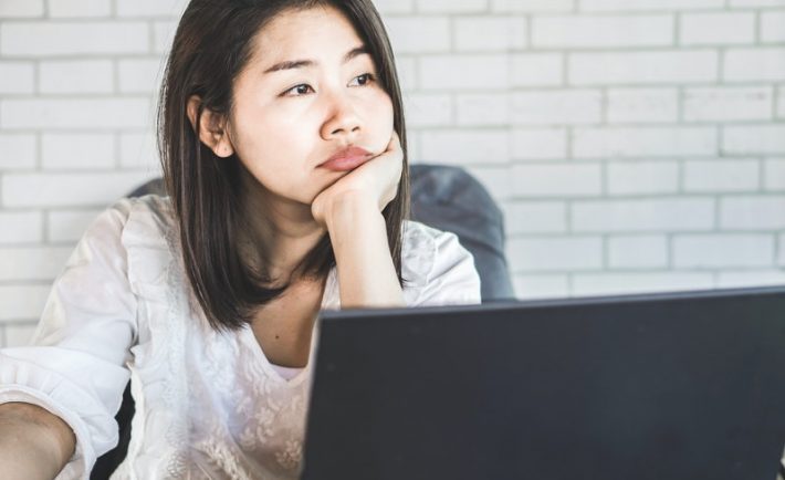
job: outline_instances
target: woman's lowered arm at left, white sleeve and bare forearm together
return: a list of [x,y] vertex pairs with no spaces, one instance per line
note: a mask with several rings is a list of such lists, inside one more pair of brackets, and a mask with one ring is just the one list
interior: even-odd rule
[[88,227],[31,344],[0,348],[0,479],[86,478],[117,442],[136,332],[122,240],[129,211],[124,200]]

